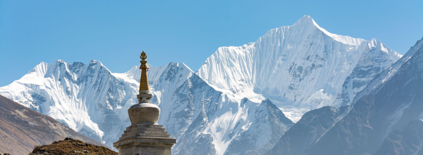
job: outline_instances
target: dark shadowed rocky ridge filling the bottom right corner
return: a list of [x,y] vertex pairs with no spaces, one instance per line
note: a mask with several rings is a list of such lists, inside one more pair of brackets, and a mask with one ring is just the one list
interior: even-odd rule
[[423,122],[410,121],[401,130],[393,131],[374,155],[423,155]]

